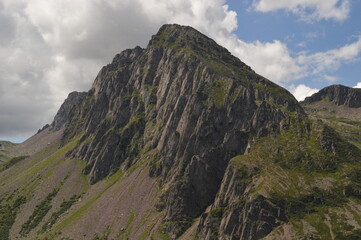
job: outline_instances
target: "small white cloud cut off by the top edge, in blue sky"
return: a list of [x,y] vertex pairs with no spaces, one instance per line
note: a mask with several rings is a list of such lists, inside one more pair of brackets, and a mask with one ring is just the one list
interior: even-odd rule
[[321,19],[343,21],[350,13],[350,0],[254,0],[253,6],[260,12],[284,9],[307,22]]

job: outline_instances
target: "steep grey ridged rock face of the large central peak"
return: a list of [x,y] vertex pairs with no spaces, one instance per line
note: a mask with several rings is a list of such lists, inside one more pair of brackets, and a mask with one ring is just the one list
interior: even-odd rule
[[[163,26],[146,49],[116,55],[79,102],[64,140],[83,134],[73,155],[87,162],[84,172],[95,183],[152,152],[150,175],[168,186],[159,209],[166,210],[164,228],[174,238],[214,201],[232,157],[254,138],[287,129],[291,116],[305,117],[285,89],[179,25]],[[260,221],[264,211],[276,211],[262,196],[242,209]],[[261,236],[281,218],[269,226],[245,223],[237,234]]]

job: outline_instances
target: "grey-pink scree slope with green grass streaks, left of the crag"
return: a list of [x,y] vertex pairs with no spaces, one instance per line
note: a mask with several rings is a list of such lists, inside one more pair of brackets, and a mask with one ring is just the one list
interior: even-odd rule
[[166,239],[154,208],[161,189],[146,163],[156,152],[90,186],[84,162],[66,157],[78,140],[47,144],[0,172],[0,239]]

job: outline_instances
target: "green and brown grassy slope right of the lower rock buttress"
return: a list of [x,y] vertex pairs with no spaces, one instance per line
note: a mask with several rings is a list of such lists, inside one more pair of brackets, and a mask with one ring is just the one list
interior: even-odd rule
[[249,155],[232,161],[236,168],[260,168],[252,194],[267,196],[285,209],[289,222],[265,239],[361,238],[361,197],[347,191],[360,187],[361,159],[356,156],[349,162],[342,155],[322,151],[316,143],[319,129],[314,122],[310,136],[290,129],[281,136],[267,137]]

